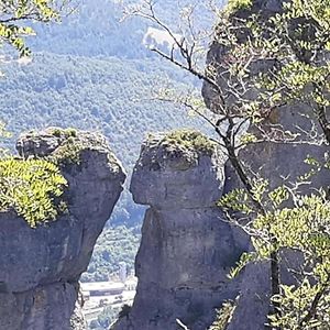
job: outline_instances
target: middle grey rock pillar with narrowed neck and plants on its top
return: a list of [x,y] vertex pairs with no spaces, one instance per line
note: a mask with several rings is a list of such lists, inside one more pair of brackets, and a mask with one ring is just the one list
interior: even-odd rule
[[[179,329],[176,319],[205,330],[215,308],[238,293],[226,275],[240,248],[215,208],[224,180],[221,153],[168,152],[161,140],[144,142],[132,176],[134,200],[150,208],[135,262],[138,293],[116,330]],[[183,160],[194,161],[183,166]]]

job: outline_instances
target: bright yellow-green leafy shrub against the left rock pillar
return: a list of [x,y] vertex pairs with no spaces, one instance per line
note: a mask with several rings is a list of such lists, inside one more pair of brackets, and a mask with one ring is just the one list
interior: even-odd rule
[[58,168],[46,161],[0,161],[0,209],[15,210],[32,228],[55,220],[64,210],[61,197],[65,186]]

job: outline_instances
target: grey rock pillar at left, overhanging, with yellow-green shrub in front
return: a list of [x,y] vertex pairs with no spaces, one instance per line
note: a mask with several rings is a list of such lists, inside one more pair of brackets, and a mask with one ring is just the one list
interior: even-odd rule
[[[0,213],[0,329],[85,329],[77,304],[78,279],[122,191],[125,174],[101,135],[61,132],[59,138],[54,129],[28,133],[18,142],[24,157],[59,160],[68,182],[69,212],[36,229],[14,213]],[[75,151],[77,163],[67,162],[68,151]]]

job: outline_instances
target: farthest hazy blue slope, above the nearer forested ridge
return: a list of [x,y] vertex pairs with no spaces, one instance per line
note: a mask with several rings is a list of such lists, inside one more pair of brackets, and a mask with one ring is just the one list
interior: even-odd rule
[[[64,16],[61,24],[35,26],[38,37],[30,41],[34,52],[46,51],[90,57],[117,56],[122,59],[156,58],[142,42],[151,25],[150,22],[136,18],[122,20],[122,6],[136,4],[136,0],[75,2],[78,2],[78,10],[68,18]],[[182,12],[175,1],[154,1],[154,3],[155,10],[162,13],[164,21],[177,23]],[[180,6],[189,7],[191,0],[180,0]],[[211,26],[213,21],[207,20],[207,11],[202,3],[199,8],[204,20],[196,20],[195,23]]]

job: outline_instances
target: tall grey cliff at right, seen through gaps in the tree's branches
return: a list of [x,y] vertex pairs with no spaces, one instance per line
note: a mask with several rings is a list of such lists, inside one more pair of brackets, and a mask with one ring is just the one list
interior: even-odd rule
[[[283,1],[278,0],[254,0],[251,12],[258,12],[261,18],[267,18],[274,12],[279,12],[282,3]],[[246,12],[244,10],[238,11],[235,16],[246,18]],[[244,38],[244,35],[241,37]],[[223,55],[226,55],[226,52],[227,50],[215,41],[208,53],[208,64],[218,68],[217,81],[223,88],[226,88],[226,79],[223,79],[221,72],[221,63],[224,62]],[[268,66],[265,65],[272,65],[272,63],[265,64],[265,62],[260,61],[254,63],[252,70],[256,74],[261,73],[267,69]],[[217,109],[219,95],[215,88],[209,84],[204,84],[202,95],[208,108],[215,113],[219,113],[219,109]],[[253,99],[254,95],[249,94],[245,97]],[[268,134],[274,134],[277,128],[280,128],[283,132],[289,131],[299,134],[299,140],[310,141],[310,134],[322,134],[321,128],[318,124],[315,125],[315,123],[317,123],[317,118],[311,109],[306,105],[295,103],[273,110],[268,119],[264,120],[262,129]],[[253,125],[248,131],[260,136],[260,130]],[[299,176],[310,169],[310,166],[304,162],[307,156],[322,160],[327,150],[329,150],[327,145],[293,145],[280,142],[264,142],[242,150],[240,158],[246,165],[246,168],[268,179],[270,188],[275,188],[282,184],[295,183]],[[231,165],[227,164],[226,167],[224,191],[228,193],[240,187],[241,183]],[[311,178],[312,188],[329,187],[329,185],[330,177],[324,169]],[[301,186],[300,191],[310,194],[310,186]],[[293,258],[299,260],[297,255]],[[287,277],[287,274],[283,275]],[[290,278],[287,280],[290,280]],[[235,312],[227,329],[263,330],[264,323],[267,321],[266,315],[270,311],[270,264],[250,265],[243,272],[241,283]],[[244,324],[244,328],[241,328],[242,324]]]

